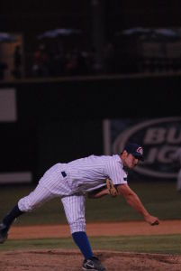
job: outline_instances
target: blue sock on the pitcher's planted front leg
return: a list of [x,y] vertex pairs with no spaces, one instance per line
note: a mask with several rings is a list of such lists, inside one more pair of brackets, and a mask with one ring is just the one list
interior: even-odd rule
[[80,251],[84,255],[85,259],[94,256],[85,231],[74,232],[72,233],[72,237],[77,244],[77,247],[80,248]]

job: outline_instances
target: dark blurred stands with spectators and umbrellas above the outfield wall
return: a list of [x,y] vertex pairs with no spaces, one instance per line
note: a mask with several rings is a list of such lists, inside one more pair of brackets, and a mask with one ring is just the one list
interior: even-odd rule
[[0,79],[180,71],[180,5],[3,2]]

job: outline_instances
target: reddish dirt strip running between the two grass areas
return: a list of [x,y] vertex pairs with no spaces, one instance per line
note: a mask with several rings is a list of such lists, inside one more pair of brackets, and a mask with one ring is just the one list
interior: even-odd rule
[[[181,234],[181,220],[160,221],[160,225],[154,227],[149,226],[144,221],[88,223],[86,224],[86,232],[88,236]],[[59,238],[69,236],[68,225],[13,227],[9,233],[9,238]]]

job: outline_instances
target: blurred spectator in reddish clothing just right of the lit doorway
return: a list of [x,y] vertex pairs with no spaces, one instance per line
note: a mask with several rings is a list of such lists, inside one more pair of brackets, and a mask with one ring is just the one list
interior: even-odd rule
[[37,77],[49,76],[49,61],[49,54],[46,51],[45,45],[42,43],[33,54],[32,75]]

